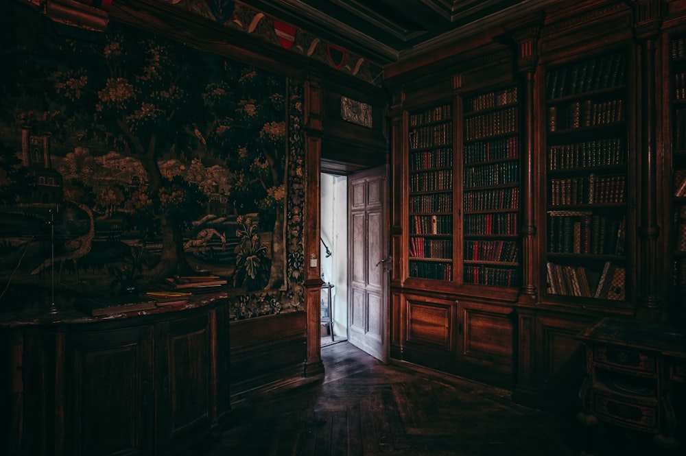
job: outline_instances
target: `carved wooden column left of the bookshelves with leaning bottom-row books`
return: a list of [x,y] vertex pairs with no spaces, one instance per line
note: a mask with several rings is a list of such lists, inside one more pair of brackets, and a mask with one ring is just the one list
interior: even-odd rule
[[539,25],[530,25],[514,32],[517,41],[517,67],[523,75],[523,107],[521,117],[523,128],[520,137],[523,139],[521,147],[523,165],[522,188],[522,298],[530,302],[538,299],[539,255],[536,249],[536,158],[534,154],[534,75],[539,62]]

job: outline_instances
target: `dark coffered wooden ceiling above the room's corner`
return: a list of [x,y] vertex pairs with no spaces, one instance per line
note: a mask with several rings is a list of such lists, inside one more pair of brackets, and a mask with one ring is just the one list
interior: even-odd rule
[[379,64],[397,62],[558,0],[246,0]]

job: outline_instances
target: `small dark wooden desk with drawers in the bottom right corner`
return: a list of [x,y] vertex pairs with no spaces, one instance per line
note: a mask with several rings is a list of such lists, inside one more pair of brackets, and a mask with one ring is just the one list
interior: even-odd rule
[[[587,346],[584,422],[601,422],[654,433],[678,446],[686,409],[674,401],[684,378],[686,334],[664,324],[604,318],[580,335]],[[683,397],[683,396],[681,396]]]

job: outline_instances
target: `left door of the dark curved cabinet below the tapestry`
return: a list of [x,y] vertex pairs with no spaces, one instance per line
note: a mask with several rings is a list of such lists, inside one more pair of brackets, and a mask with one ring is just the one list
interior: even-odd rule
[[152,328],[73,333],[67,353],[67,454],[152,453]]

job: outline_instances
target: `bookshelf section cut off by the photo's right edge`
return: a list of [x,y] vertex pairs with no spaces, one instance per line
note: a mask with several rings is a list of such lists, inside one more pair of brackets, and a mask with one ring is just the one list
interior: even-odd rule
[[672,173],[674,187],[674,308],[686,309],[686,35],[670,42],[672,71]]

